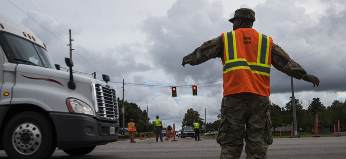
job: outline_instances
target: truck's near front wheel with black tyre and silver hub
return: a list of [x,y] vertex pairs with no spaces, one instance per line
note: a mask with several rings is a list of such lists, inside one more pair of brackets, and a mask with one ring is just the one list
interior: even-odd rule
[[10,158],[49,158],[56,147],[53,123],[38,112],[22,112],[7,123],[3,145]]

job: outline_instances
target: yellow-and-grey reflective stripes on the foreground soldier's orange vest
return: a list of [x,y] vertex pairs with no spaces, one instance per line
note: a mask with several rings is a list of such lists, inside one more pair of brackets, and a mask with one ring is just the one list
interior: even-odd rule
[[[249,69],[253,73],[270,76],[270,66],[268,65],[270,38],[269,36],[258,33],[258,49],[257,49],[257,62],[249,63],[245,58],[237,58],[237,47],[235,31],[223,33],[223,40],[225,42],[226,61],[223,65],[223,73],[227,73],[236,69]],[[251,41],[242,41],[239,43],[247,43]]]

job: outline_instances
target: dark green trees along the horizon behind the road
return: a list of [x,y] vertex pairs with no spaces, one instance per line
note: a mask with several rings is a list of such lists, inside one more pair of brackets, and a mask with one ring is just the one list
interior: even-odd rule
[[[149,132],[154,131],[155,123],[154,121],[150,122],[148,117],[148,112],[146,110],[141,110],[135,103],[129,103],[125,101],[118,101],[118,110],[119,110],[119,123],[120,128],[123,128],[123,113],[121,109],[125,105],[125,128],[128,127],[128,123],[132,119],[136,125],[137,131]],[[286,103],[286,106],[279,107],[278,105],[271,103],[271,121],[274,131],[277,131],[278,127],[289,126],[293,122],[293,109],[292,109],[292,97],[290,101]],[[299,99],[295,99],[295,108],[296,108],[296,119],[297,119],[297,128],[301,131],[312,131],[315,129],[315,118],[318,116],[318,125],[324,131],[327,131],[326,128],[333,129],[333,125],[336,125],[338,120],[340,121],[340,129],[345,129],[346,126],[346,100],[344,102],[335,100],[332,105],[325,107],[321,102],[320,98],[313,98],[312,102],[309,104],[307,109],[304,109],[302,102]],[[220,114],[217,115],[218,120],[213,123],[206,123],[206,128],[219,130],[220,128]],[[182,127],[184,126],[193,126],[194,121],[200,125],[204,124],[203,118],[200,117],[200,114],[193,110],[192,108],[187,110],[184,118],[182,119]],[[172,129],[171,125],[168,125],[169,130]],[[164,129],[167,129],[166,127]],[[122,133],[121,131],[119,133]]]

